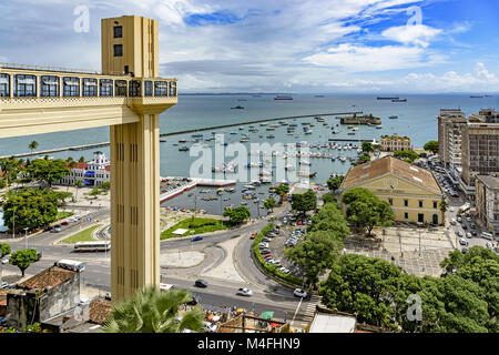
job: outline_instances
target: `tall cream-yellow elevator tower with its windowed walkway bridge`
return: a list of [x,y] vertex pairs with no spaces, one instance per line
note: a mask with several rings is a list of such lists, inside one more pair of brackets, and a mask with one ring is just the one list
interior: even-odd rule
[[156,20],[103,19],[101,30],[101,73],[0,63],[0,138],[110,126],[115,302],[160,283],[159,118],[177,88],[159,78]]

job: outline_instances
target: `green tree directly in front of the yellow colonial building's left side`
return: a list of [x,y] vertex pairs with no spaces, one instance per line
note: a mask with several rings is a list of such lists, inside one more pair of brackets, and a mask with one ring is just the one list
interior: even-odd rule
[[342,202],[347,204],[347,221],[358,229],[364,229],[369,236],[375,226],[388,226],[395,221],[391,206],[386,201],[380,201],[367,189],[352,189],[342,196]]

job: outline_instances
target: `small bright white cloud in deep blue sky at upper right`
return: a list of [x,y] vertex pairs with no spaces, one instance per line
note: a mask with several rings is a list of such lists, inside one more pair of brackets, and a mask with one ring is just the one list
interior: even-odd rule
[[441,32],[439,29],[425,24],[416,24],[391,27],[383,31],[381,36],[404,44],[415,44],[426,48],[429,45],[429,41]]

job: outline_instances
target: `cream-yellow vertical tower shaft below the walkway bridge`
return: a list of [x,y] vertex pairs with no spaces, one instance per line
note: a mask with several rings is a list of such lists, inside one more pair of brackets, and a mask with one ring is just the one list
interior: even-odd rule
[[111,129],[113,302],[160,283],[159,114]]

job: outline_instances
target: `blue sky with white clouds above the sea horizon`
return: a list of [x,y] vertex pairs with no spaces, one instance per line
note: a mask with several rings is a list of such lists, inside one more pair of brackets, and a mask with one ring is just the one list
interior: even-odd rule
[[2,1],[0,61],[100,69],[100,19],[122,14],[159,20],[162,75],[183,92],[499,92],[485,0]]

